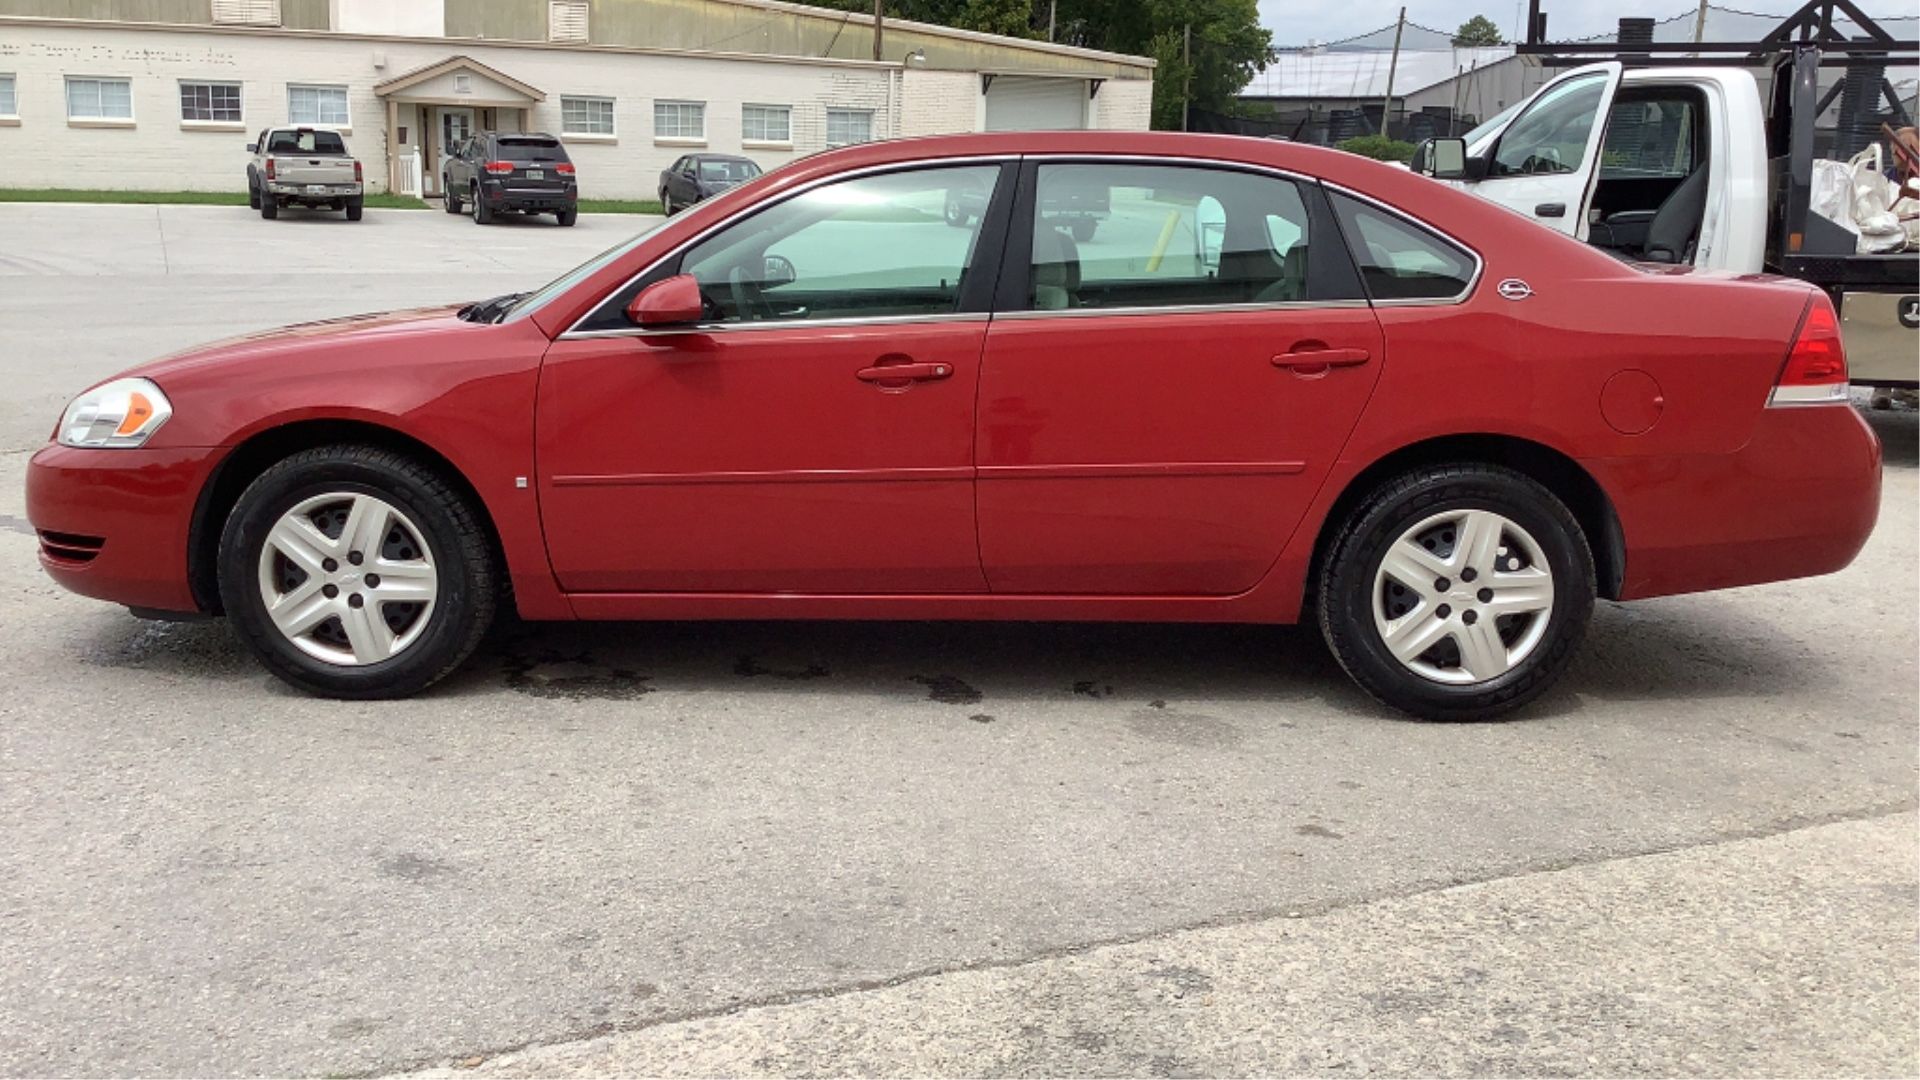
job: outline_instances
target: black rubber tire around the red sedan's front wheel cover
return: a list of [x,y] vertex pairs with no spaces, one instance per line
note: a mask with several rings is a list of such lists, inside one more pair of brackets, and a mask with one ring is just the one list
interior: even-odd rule
[[[371,494],[405,513],[438,571],[426,628],[399,653],[365,667],[326,663],[296,648],[269,619],[259,590],[267,532],[301,500],[328,492]],[[392,450],[323,446],[275,463],[234,503],[219,559],[221,603],[240,640],[271,673],[324,698],[419,694],[453,673],[493,621],[497,571],[480,511],[438,471]]]

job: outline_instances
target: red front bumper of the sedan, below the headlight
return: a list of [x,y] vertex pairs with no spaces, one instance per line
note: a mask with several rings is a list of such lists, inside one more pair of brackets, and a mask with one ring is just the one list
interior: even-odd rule
[[194,502],[221,454],[40,450],[27,463],[27,521],[40,538],[40,567],[81,596],[198,611],[186,544]]

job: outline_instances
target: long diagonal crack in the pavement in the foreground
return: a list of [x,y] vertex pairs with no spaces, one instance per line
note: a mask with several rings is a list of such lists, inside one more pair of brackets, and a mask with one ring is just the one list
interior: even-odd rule
[[465,1067],[465,1065],[476,1063],[476,1059],[484,1061],[484,1059],[501,1057],[501,1055],[507,1055],[507,1053],[520,1053],[520,1051],[526,1051],[526,1049],[551,1047],[551,1045],[566,1045],[566,1043],[597,1040],[597,1038],[605,1038],[605,1036],[612,1036],[612,1034],[641,1032],[641,1030],[649,1030],[649,1028],[660,1028],[660,1026],[666,1026],[666,1024],[682,1024],[682,1022],[689,1022],[689,1020],[712,1020],[712,1019],[720,1019],[720,1017],[735,1017],[735,1015],[753,1013],[753,1011],[758,1011],[758,1009],[776,1009],[776,1007],[781,1007],[781,1005],[799,1005],[799,1003],[806,1003],[806,1001],[822,1001],[822,999],[845,997],[845,995],[852,995],[852,994],[870,994],[870,992],[876,992],[876,990],[893,990],[893,988],[910,984],[910,982],[920,982],[920,980],[925,980],[925,978],[939,978],[939,976],[947,976],[947,974],[1018,969],[1018,967],[1027,967],[1027,965],[1035,965],[1035,963],[1048,963],[1048,961],[1066,959],[1066,957],[1079,957],[1079,955],[1094,953],[1094,951],[1100,951],[1100,949],[1110,949],[1110,947],[1116,947],[1116,945],[1137,945],[1137,944],[1144,944],[1144,942],[1156,942],[1156,940],[1162,940],[1162,938],[1173,938],[1173,936],[1194,932],[1194,930],[1219,930],[1219,928],[1231,928],[1231,926],[1250,926],[1250,924],[1267,922],[1267,920],[1275,920],[1275,919],[1311,919],[1311,917],[1317,917],[1317,915],[1329,915],[1329,913],[1334,913],[1334,911],[1342,911],[1342,909],[1350,909],[1350,907],[1363,907],[1363,905],[1369,905],[1369,903],[1380,903],[1380,901],[1390,901],[1390,899],[1405,899],[1405,897],[1415,897],[1415,896],[1425,896],[1425,894],[1448,892],[1448,890],[1455,890],[1455,888],[1480,886],[1480,884],[1513,880],[1513,878],[1526,878],[1526,876],[1538,876],[1538,874],[1557,874],[1557,872],[1563,872],[1563,871],[1572,871],[1572,869],[1582,869],[1582,867],[1601,867],[1601,865],[1607,865],[1607,863],[1624,863],[1624,861],[1647,859],[1647,857],[1655,857],[1655,855],[1672,855],[1672,853],[1682,853],[1682,851],[1697,851],[1697,849],[1705,849],[1705,847],[1720,847],[1720,846],[1726,846],[1726,844],[1740,844],[1740,842],[1745,842],[1745,840],[1764,840],[1764,838],[1770,838],[1770,836],[1784,836],[1784,834],[1789,834],[1789,832],[1801,832],[1801,830],[1807,830],[1807,828],[1820,828],[1820,826],[1826,826],[1826,824],[1843,824],[1843,822],[1874,821],[1874,819],[1884,819],[1884,817],[1899,817],[1899,815],[1914,813],[1914,809],[1920,809],[1920,799],[1899,799],[1899,801],[1872,803],[1872,805],[1857,807],[1857,809],[1851,809],[1851,811],[1822,813],[1822,815],[1795,815],[1795,817],[1788,817],[1788,819],[1776,819],[1772,822],[1764,822],[1764,824],[1751,826],[1751,828],[1738,828],[1738,830],[1722,832],[1722,834],[1716,834],[1716,836],[1713,836],[1709,840],[1663,844],[1663,846],[1651,846],[1651,847],[1642,847],[1642,849],[1622,851],[1622,853],[1613,853],[1613,855],[1601,855],[1601,857],[1540,859],[1540,861],[1528,861],[1528,863],[1515,863],[1515,865],[1507,865],[1507,867],[1498,867],[1498,869],[1490,869],[1490,871],[1480,872],[1480,874],[1467,874],[1467,876],[1457,876],[1457,878],[1450,878],[1450,880],[1434,880],[1434,878],[1419,880],[1419,882],[1411,882],[1411,884],[1407,884],[1404,888],[1394,888],[1394,890],[1384,890],[1384,892],[1375,892],[1375,894],[1332,897],[1332,899],[1323,899],[1323,901],[1313,901],[1313,903],[1292,903],[1292,905],[1283,905],[1283,907],[1265,907],[1265,909],[1258,909],[1258,911],[1223,913],[1223,915],[1215,915],[1212,919],[1202,919],[1202,920],[1196,920],[1196,922],[1183,922],[1183,924],[1177,924],[1177,926],[1164,926],[1164,928],[1156,928],[1156,930],[1144,930],[1144,932],[1139,932],[1139,934],[1121,934],[1121,936],[1114,936],[1114,938],[1100,938],[1100,940],[1092,940],[1092,942],[1079,942],[1079,944],[1071,944],[1071,945],[1060,945],[1060,947],[1052,947],[1052,949],[1041,949],[1041,951],[1027,953],[1027,955],[1021,955],[1021,957],[995,957],[995,959],[981,959],[981,961],[964,961],[964,963],[954,963],[954,965],[933,965],[933,967],[906,970],[906,972],[900,972],[900,974],[891,974],[891,976],[885,976],[885,978],[868,978],[868,980],[854,980],[854,982],[835,984],[835,986],[810,986],[810,988],[799,988],[799,990],[785,990],[785,992],[780,992],[780,994],[766,994],[766,995],[760,995],[760,997],[753,997],[753,999],[747,999],[747,1001],[733,1001],[733,1003],[718,1005],[718,1007],[712,1007],[712,1009],[693,1009],[693,1011],[687,1011],[687,1013],[676,1013],[676,1015],[666,1015],[666,1017],[649,1017],[649,1019],[637,1020],[637,1022],[605,1022],[605,1024],[593,1024],[589,1028],[568,1032],[568,1034],[561,1034],[561,1036],[532,1038],[532,1040],[522,1040],[522,1042],[516,1042],[516,1043],[493,1045],[493,1047],[478,1049],[478,1051],[468,1049],[465,1053],[445,1053],[445,1055],[434,1055],[434,1057],[424,1057],[424,1059],[411,1059],[411,1061],[401,1061],[401,1063],[394,1063],[394,1065],[386,1065],[386,1067],[376,1067],[376,1068],[369,1068],[369,1070],[359,1070],[359,1072],[340,1072],[338,1076],[349,1076],[349,1078],[399,1076],[399,1074],[417,1072],[417,1070],[422,1070],[422,1068],[445,1067],[449,1063],[461,1063]]

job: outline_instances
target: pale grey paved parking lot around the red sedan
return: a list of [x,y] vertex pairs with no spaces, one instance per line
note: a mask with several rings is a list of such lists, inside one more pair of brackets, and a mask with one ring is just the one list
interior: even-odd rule
[[1914,1074],[1920,452],[1847,571],[1599,603],[1521,719],[1309,628],[507,626],[413,701],[35,563],[90,382],[643,217],[0,206],[0,1074]]

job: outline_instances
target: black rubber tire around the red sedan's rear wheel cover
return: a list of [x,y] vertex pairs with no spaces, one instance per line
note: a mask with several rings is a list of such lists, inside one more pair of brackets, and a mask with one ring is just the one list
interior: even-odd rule
[[[1453,509],[1494,511],[1524,528],[1553,575],[1544,636],[1505,675],[1484,682],[1448,684],[1411,671],[1388,651],[1373,619],[1375,573],[1388,546]],[[1498,465],[1432,465],[1386,480],[1354,507],[1327,548],[1315,588],[1327,648],[1365,692],[1428,721],[1482,721],[1526,705],[1567,669],[1594,613],[1594,553],[1567,505],[1534,479]]]

